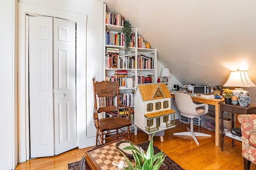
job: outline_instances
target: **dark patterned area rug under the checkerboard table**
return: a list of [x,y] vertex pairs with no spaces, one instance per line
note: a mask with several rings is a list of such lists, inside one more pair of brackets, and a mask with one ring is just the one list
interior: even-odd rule
[[[147,150],[148,149],[148,145],[149,145],[149,141],[138,144],[138,146],[141,147],[143,150]],[[155,154],[158,153],[158,152],[161,152],[161,150],[158,149],[158,147],[156,147],[154,145],[153,145],[153,148],[154,148],[154,153]],[[79,162],[80,161],[69,163],[68,164],[68,170],[78,170]],[[176,162],[174,162],[168,156],[166,156],[165,159],[164,159],[162,169],[163,170],[184,170],[181,166],[176,164]]]

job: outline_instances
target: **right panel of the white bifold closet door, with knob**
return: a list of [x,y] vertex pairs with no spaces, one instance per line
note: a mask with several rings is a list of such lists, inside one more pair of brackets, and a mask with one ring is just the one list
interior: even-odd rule
[[55,154],[76,147],[76,25],[54,18]]

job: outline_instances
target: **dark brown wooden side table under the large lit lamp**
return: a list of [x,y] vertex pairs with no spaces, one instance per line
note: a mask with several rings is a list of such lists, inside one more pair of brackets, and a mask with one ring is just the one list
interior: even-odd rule
[[[221,132],[220,132],[220,136],[221,136],[221,151],[223,151],[223,138],[224,138],[224,133],[223,133],[223,112],[227,111],[232,113],[232,128],[234,128],[234,113],[241,115],[241,114],[253,114],[256,113],[256,107],[255,105],[252,104],[248,104],[248,106],[246,107],[242,107],[239,105],[233,105],[233,104],[225,104],[224,102],[220,103],[220,114],[221,114],[221,121],[220,121],[220,125],[221,125]],[[234,147],[234,140],[232,139],[232,146]]]

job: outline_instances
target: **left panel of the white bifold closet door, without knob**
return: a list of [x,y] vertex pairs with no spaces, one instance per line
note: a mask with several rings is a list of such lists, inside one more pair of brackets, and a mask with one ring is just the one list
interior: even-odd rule
[[54,155],[52,18],[29,17],[31,158]]

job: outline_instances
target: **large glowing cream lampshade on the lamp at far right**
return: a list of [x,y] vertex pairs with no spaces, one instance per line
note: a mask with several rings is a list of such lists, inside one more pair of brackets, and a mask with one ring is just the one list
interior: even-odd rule
[[255,87],[256,85],[250,80],[247,71],[230,71],[228,80],[223,85],[226,87]]

